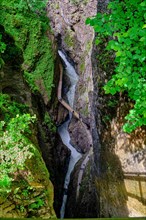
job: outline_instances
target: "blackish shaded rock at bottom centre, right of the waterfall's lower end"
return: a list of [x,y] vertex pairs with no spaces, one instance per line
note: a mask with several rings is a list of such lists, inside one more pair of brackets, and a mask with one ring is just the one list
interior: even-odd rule
[[77,164],[71,178],[68,191],[68,202],[66,208],[66,218],[94,218],[99,216],[99,201],[96,197],[95,183],[93,181],[92,162],[93,158],[86,164],[83,177],[80,182],[79,196],[77,197],[77,184],[81,163],[87,154]]

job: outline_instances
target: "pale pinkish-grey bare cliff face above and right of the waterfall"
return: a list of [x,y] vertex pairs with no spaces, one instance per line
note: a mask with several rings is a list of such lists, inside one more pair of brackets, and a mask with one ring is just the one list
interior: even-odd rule
[[[89,93],[93,92],[92,42],[94,32],[85,25],[89,16],[96,14],[97,1],[49,1],[48,16],[60,47],[74,61],[79,74],[75,107],[89,116]],[[84,106],[84,108],[83,108]]]

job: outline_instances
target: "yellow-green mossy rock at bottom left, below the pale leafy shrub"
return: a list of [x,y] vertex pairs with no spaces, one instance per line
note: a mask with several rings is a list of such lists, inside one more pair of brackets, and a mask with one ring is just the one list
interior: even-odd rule
[[55,218],[53,186],[37,149],[23,170],[14,173],[11,192],[0,197],[0,217]]

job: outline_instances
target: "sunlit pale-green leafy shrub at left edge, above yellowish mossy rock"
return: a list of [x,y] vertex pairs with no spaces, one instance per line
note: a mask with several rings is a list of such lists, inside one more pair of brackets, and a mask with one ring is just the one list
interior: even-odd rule
[[13,174],[33,155],[34,146],[28,137],[35,116],[24,113],[25,106],[10,101],[5,94],[0,94],[0,109],[0,191],[8,192]]

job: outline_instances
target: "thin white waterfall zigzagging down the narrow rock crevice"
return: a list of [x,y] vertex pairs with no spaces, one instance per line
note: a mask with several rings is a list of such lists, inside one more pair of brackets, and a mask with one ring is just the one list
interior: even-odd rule
[[[67,99],[68,99],[69,105],[73,108],[75,88],[78,82],[78,75],[75,69],[73,68],[73,66],[66,59],[66,56],[64,55],[64,53],[60,50],[58,51],[58,53],[66,65],[65,73],[70,79],[71,86],[69,88],[69,91],[67,92]],[[68,191],[68,185],[70,182],[71,172],[73,171],[75,164],[82,157],[82,155],[79,152],[77,152],[76,149],[70,144],[71,139],[70,139],[70,135],[68,132],[68,126],[71,121],[71,118],[72,118],[72,113],[69,113],[69,119],[65,121],[61,126],[58,127],[58,133],[62,139],[62,142],[71,151],[68,170],[67,170],[67,174],[66,174],[65,182],[64,182],[64,195],[63,195],[63,201],[62,201],[62,206],[60,210],[60,218],[64,218],[64,214],[65,214],[65,206],[67,202],[67,191]]]

